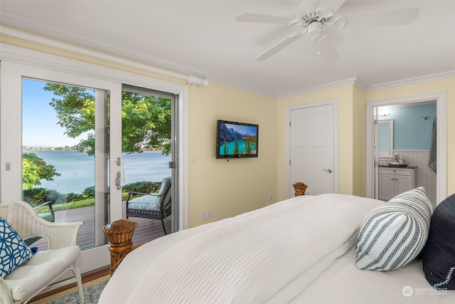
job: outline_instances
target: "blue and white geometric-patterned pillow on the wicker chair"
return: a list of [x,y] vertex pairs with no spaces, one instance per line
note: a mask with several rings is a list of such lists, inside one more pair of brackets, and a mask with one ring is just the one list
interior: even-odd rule
[[4,278],[32,256],[21,236],[0,216],[0,277]]

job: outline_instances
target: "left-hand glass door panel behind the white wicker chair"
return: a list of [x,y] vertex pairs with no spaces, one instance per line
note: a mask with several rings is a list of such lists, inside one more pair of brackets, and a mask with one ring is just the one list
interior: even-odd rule
[[[77,238],[82,250],[106,243],[108,95],[106,90],[22,80],[23,200],[33,207],[48,202],[36,211],[49,221],[83,221]],[[38,240],[35,246],[47,244]]]

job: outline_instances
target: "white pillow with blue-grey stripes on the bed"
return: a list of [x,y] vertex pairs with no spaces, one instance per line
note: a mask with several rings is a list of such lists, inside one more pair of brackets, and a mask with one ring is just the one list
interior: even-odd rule
[[360,228],[355,267],[391,271],[412,261],[427,241],[432,209],[419,187],[371,211]]

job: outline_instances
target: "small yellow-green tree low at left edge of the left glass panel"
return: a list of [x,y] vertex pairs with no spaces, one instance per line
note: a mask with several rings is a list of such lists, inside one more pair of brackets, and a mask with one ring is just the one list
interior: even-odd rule
[[23,189],[33,189],[33,186],[41,184],[41,179],[53,181],[53,177],[55,176],[60,176],[60,173],[55,172],[52,164],[46,164],[35,153],[22,154]]

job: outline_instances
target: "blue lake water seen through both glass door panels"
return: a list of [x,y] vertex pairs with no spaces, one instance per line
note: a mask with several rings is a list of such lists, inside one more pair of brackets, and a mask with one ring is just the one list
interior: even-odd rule
[[[59,177],[53,177],[53,182],[41,180],[42,187],[54,189],[61,194],[80,194],[87,187],[95,185],[95,157],[76,151],[28,151],[35,153],[46,164],[52,164]],[[122,185],[134,182],[161,182],[164,177],[171,176],[168,162],[171,156],[161,154],[161,151],[145,151],[142,153],[122,154],[122,168],[125,168]],[[117,171],[117,167],[114,169]]]

